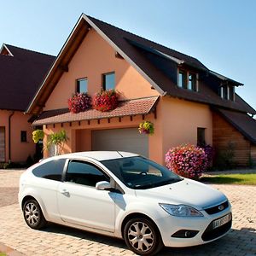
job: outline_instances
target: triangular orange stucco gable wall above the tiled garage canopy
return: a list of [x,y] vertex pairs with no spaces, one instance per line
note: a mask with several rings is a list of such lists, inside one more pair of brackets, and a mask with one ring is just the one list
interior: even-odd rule
[[156,96],[151,84],[124,59],[115,57],[114,49],[92,29],[63,73],[60,81],[45,104],[44,110],[67,108],[67,99],[76,89],[76,79],[88,79],[88,94],[101,90],[102,73],[115,72],[116,90],[123,99]]

